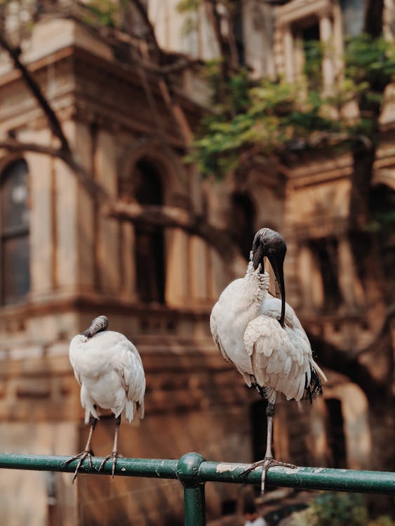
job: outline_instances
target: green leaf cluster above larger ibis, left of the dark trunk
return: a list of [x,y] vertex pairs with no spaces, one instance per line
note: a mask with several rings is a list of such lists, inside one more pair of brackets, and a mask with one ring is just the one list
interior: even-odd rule
[[[215,89],[213,63],[208,71]],[[307,140],[314,130],[340,131],[340,124],[321,111],[323,104],[321,97],[310,95],[304,86],[267,80],[256,83],[241,71],[227,83],[225,102],[215,104],[203,119],[187,161],[197,163],[205,175],[222,177],[239,166],[241,159],[250,159],[250,150],[270,155],[283,151],[292,140]]]

